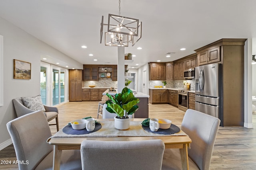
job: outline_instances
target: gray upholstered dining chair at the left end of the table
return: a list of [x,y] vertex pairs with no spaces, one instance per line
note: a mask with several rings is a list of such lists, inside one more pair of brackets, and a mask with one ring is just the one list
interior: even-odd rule
[[[52,136],[43,111],[35,111],[6,124],[12,138],[20,170],[50,170],[53,165],[53,146],[46,143]],[[60,169],[81,170],[80,150],[63,150]]]

